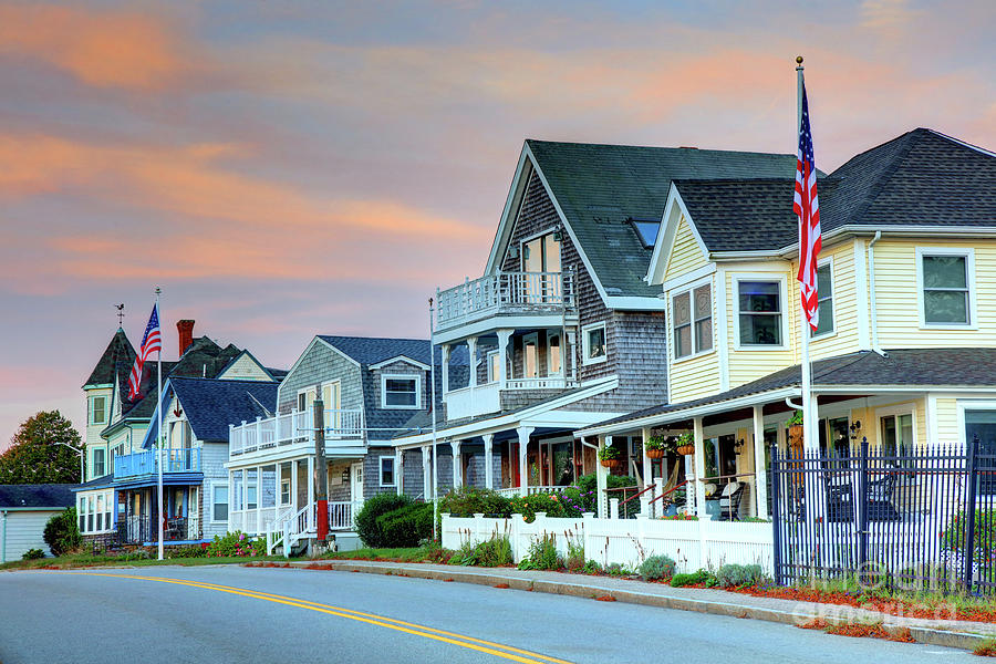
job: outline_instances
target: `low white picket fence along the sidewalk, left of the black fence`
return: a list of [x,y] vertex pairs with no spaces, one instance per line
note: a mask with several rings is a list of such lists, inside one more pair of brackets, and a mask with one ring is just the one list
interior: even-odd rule
[[768,522],[676,521],[668,519],[550,518],[537,512],[527,523],[520,515],[510,519],[443,515],[443,547],[459,549],[495,536],[506,536],[516,562],[529,554],[529,546],[543,536],[553,537],[562,556],[568,543],[584,544],[584,558],[605,567],[620,563],[637,567],[649,556],[670,556],[679,572],[718,569],[728,563],[760,564],[774,572],[774,531]]

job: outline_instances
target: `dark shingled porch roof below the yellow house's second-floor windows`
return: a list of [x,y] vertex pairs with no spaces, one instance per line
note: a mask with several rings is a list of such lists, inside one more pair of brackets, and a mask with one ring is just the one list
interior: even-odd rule
[[[726,392],[676,404],[652,406],[587,428],[678,413],[782,387],[795,387],[801,383],[801,369],[796,364]],[[819,392],[820,387],[854,387],[858,391],[882,387],[996,387],[996,349],[900,349],[886,351],[885,356],[873,351],[837,355],[812,363],[812,388]]]

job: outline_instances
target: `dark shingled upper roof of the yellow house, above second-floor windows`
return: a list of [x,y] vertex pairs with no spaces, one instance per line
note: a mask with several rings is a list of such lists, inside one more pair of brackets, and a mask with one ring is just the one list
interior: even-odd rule
[[[793,179],[675,180],[709,251],[798,242]],[[819,178],[823,234],[842,226],[996,225],[996,158],[931,129],[913,129]]]

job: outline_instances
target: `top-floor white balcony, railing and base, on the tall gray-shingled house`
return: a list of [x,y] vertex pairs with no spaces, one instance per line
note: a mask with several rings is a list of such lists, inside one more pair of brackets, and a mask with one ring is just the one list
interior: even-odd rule
[[[499,326],[543,326],[550,318],[573,313],[571,272],[498,272],[437,292],[436,343]],[[509,319],[491,321],[488,319]],[[475,325],[477,323],[477,325]]]

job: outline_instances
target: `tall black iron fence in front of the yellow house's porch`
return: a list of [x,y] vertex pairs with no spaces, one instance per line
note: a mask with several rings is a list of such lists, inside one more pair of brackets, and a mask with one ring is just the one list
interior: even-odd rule
[[775,578],[996,593],[996,454],[771,449]]

